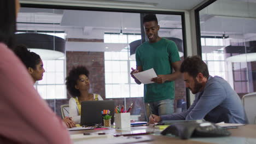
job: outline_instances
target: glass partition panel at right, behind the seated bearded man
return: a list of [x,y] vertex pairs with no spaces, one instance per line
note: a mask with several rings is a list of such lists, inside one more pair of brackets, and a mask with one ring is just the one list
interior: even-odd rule
[[218,0],[199,11],[202,59],[240,98],[256,91],[256,2]]

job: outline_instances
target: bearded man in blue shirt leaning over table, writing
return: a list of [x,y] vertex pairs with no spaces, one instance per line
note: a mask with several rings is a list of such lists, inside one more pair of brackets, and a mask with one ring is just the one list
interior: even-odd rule
[[207,65],[199,56],[186,58],[180,69],[185,85],[196,94],[194,103],[182,113],[149,117],[150,123],[167,120],[205,119],[212,123],[247,123],[237,93],[222,77],[210,76]]

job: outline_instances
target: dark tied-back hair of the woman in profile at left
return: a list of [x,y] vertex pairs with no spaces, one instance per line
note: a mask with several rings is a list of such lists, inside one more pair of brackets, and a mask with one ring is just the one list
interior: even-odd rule
[[31,52],[25,45],[22,44],[15,46],[14,53],[20,58],[27,69],[28,67],[36,69],[36,65],[41,61],[41,58],[39,55],[37,55],[37,53]]

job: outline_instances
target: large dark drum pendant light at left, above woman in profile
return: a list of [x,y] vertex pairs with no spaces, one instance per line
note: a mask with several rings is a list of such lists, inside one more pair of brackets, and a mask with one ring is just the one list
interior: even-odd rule
[[30,51],[37,53],[43,60],[58,59],[65,56],[65,39],[48,34],[19,33],[16,43],[24,44]]

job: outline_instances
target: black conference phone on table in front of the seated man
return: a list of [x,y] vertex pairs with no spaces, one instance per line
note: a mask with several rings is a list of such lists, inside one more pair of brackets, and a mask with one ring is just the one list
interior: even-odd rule
[[181,139],[197,137],[229,136],[230,131],[210,122],[172,124],[161,132],[162,135],[172,134]]

